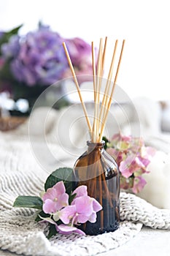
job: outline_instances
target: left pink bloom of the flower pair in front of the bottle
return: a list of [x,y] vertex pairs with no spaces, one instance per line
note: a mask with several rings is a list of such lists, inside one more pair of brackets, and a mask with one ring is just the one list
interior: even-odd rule
[[45,195],[42,196],[43,211],[46,214],[55,214],[56,211],[69,205],[69,195],[66,194],[66,188],[63,181],[59,181],[55,186],[47,189]]

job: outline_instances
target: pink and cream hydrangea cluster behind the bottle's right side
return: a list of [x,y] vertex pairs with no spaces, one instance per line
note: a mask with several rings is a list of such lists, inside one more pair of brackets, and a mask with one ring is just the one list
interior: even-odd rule
[[139,193],[147,184],[143,178],[149,173],[147,166],[155,155],[155,148],[144,145],[142,138],[115,134],[111,140],[104,138],[107,152],[120,169],[120,188]]

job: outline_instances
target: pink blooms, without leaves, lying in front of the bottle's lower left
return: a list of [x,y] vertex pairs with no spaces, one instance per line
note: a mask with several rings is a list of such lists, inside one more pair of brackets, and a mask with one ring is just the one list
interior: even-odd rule
[[[47,189],[45,195],[42,196],[42,200],[44,201],[43,211],[52,215],[47,218],[39,217],[43,219],[43,221],[55,225],[58,233],[63,235],[72,232],[85,235],[82,230],[74,227],[74,225],[87,221],[92,223],[96,222],[96,212],[100,211],[102,208],[95,198],[88,196],[87,186],[77,187],[77,189],[72,192],[72,195],[74,194],[76,194],[76,196],[71,205],[69,205],[69,195],[66,194],[63,181],[60,181],[52,188]],[[63,224],[57,224],[59,219]]]

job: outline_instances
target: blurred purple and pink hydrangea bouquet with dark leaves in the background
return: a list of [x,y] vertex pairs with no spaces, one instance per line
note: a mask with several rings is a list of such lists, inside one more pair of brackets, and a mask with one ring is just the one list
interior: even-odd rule
[[33,105],[47,86],[70,77],[63,41],[71,53],[79,82],[85,79],[81,75],[92,75],[90,45],[83,39],[63,38],[42,24],[36,31],[20,36],[20,27],[0,31],[0,92],[9,91],[12,98],[26,98]]

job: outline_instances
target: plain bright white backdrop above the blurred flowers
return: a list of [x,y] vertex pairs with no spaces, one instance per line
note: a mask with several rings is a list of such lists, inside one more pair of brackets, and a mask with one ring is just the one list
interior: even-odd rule
[[115,39],[126,39],[118,85],[131,98],[169,99],[168,0],[0,1],[1,30],[23,23],[20,34],[25,34],[36,29],[39,20],[63,37],[94,40],[96,46],[100,37],[108,36],[112,45]]

